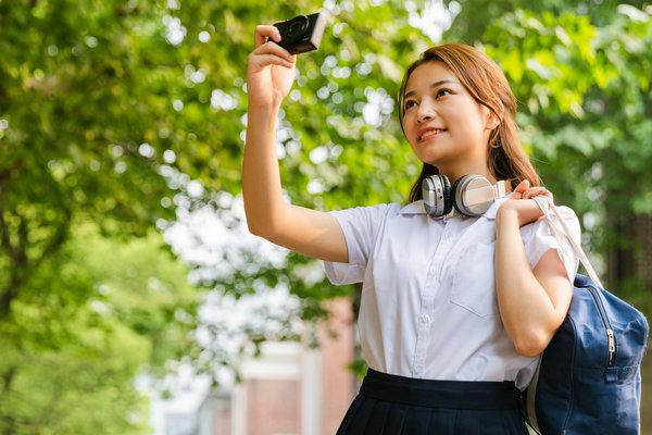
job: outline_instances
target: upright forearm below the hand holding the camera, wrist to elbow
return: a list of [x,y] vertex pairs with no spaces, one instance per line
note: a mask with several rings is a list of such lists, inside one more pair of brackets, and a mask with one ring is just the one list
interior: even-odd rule
[[251,105],[242,161],[242,197],[249,229],[264,235],[287,203],[276,157],[276,105]]

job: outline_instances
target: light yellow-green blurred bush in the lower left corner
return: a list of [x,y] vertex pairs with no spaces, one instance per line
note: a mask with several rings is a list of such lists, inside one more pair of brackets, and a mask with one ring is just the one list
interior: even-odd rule
[[[192,348],[197,291],[160,234],[75,226],[0,324],[0,433],[147,433],[136,376]],[[38,291],[37,291],[38,290]]]

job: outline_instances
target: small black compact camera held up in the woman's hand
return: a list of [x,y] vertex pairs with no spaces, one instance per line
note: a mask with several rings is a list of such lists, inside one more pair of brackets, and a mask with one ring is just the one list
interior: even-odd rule
[[292,54],[299,54],[319,47],[326,20],[323,14],[315,13],[294,16],[292,20],[276,23],[275,26],[280,32],[278,45]]

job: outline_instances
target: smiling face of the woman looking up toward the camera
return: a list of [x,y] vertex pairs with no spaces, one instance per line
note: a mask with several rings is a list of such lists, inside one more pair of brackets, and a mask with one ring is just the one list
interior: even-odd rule
[[414,153],[449,178],[486,174],[497,119],[443,63],[417,66],[405,86],[403,128]]

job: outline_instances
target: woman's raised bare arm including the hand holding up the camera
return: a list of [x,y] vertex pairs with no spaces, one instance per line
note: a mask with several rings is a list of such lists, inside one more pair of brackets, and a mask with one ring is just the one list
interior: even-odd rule
[[258,26],[249,55],[249,109],[242,162],[242,196],[249,231],[293,251],[322,260],[348,262],[347,243],[328,213],[287,203],[276,158],[276,120],[294,79],[297,58],[280,46],[274,26]]

